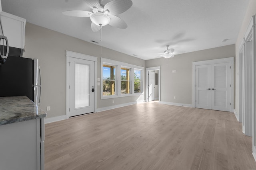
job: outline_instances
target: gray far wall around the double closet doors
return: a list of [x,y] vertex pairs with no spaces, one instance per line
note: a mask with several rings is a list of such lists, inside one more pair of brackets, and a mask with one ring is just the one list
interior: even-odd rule
[[161,66],[162,102],[192,104],[192,62],[227,57],[235,57],[234,44],[175,55],[170,59],[148,60],[146,67]]

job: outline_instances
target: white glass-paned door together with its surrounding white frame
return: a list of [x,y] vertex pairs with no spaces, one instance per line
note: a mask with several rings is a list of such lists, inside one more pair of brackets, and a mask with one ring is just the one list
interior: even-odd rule
[[67,118],[95,110],[95,58],[67,51]]

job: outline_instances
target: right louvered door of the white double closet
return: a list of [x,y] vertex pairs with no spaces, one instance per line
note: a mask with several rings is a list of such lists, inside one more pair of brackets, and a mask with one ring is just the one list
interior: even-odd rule
[[211,109],[230,111],[230,63],[212,64]]

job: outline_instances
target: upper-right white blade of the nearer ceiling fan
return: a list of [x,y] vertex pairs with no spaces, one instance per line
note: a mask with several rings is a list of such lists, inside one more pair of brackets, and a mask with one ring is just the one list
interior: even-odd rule
[[131,0],[112,0],[104,6],[104,11],[108,10],[109,15],[115,16],[127,11],[131,6]]

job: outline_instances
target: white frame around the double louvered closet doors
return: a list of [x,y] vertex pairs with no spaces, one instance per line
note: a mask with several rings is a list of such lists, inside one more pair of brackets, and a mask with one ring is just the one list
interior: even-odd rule
[[218,63],[228,63],[230,62],[230,112],[234,112],[234,57],[213,59],[206,61],[192,62],[192,107],[195,107],[195,74],[196,66],[206,65],[206,64],[218,64]]

